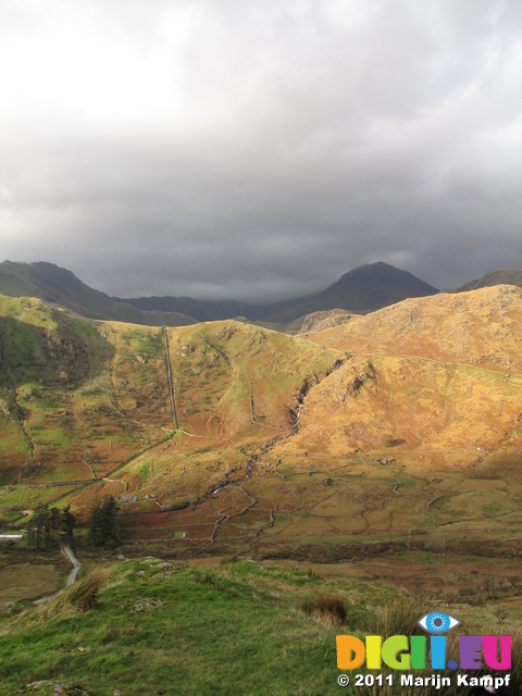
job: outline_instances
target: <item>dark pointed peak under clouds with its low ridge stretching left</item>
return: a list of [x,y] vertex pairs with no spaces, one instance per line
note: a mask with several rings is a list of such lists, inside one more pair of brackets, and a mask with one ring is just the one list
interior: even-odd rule
[[312,312],[344,309],[365,313],[407,297],[423,297],[436,293],[436,288],[411,273],[381,261],[349,271],[322,293],[270,304],[200,301],[183,297],[147,297],[123,301],[144,310],[182,312],[198,321],[241,315],[252,321],[288,324]]

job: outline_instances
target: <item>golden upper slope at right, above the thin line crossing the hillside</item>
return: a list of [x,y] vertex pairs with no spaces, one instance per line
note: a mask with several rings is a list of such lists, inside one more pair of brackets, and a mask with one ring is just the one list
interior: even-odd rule
[[495,286],[408,299],[307,337],[357,355],[419,356],[522,371],[522,290]]

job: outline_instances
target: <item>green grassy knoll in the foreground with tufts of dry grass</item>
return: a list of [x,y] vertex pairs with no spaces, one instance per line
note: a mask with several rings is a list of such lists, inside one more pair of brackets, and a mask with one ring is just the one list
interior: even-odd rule
[[[89,582],[101,586],[94,606]],[[302,610],[324,595],[345,602],[345,625]],[[202,569],[148,557],[98,568],[48,604],[2,616],[0,694],[25,693],[40,680],[89,696],[430,694],[341,688],[335,651],[338,633],[411,634],[428,609],[397,588],[324,581],[311,571],[248,560]],[[455,607],[463,633],[477,621],[490,630],[492,618],[474,610]]]

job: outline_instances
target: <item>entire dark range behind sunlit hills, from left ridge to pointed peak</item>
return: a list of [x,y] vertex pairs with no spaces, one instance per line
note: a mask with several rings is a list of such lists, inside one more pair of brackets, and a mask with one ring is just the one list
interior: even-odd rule
[[189,297],[121,299],[90,288],[71,271],[53,263],[4,261],[0,263],[0,293],[10,297],[38,297],[88,319],[183,326],[243,316],[283,328],[312,312],[341,309],[366,313],[408,297],[434,295],[438,290],[407,271],[378,262],[346,273],[322,293],[269,304]]

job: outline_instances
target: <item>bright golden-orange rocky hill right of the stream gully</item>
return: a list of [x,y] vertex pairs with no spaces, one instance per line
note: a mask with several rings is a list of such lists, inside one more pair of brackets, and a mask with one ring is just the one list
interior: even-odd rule
[[522,290],[500,285],[408,299],[306,334],[353,358],[310,390],[291,448],[312,452],[321,423],[322,452],[388,449],[418,470],[476,457],[512,464],[522,445],[521,326]]

